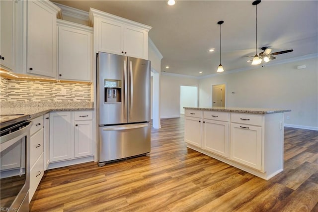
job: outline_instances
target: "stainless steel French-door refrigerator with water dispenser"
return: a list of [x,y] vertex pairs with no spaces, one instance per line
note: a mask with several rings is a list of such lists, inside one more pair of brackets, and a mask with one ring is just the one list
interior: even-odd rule
[[97,55],[98,165],[150,153],[150,61]]

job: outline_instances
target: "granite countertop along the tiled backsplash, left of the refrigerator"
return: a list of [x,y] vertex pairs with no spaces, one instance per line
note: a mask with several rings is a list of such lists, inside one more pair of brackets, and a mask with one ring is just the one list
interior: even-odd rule
[[15,114],[29,115],[28,119],[33,119],[50,111],[93,109],[93,102],[1,102],[0,123],[15,119]]

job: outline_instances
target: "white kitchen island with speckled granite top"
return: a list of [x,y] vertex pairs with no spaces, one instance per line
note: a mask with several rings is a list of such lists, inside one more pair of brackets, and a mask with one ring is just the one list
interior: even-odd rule
[[284,168],[289,109],[184,107],[187,147],[268,180]]

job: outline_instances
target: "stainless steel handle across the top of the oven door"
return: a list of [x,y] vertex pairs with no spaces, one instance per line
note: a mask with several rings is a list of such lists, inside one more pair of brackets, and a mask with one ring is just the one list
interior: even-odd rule
[[14,144],[15,142],[17,142],[18,140],[20,140],[22,137],[24,137],[27,134],[28,130],[30,130],[32,125],[33,125],[33,121],[29,121],[27,126],[17,131],[14,131],[12,133],[1,136],[0,137],[1,152],[5,150],[6,148],[8,148],[9,146],[11,146],[12,144]]

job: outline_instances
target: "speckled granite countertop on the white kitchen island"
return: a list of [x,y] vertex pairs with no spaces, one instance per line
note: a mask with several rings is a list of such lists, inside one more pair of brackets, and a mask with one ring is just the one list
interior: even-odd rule
[[183,107],[184,109],[198,109],[198,110],[212,110],[221,112],[241,112],[241,113],[252,113],[252,114],[269,114],[276,112],[290,112],[291,109],[274,109],[274,108],[248,108],[248,107]]

